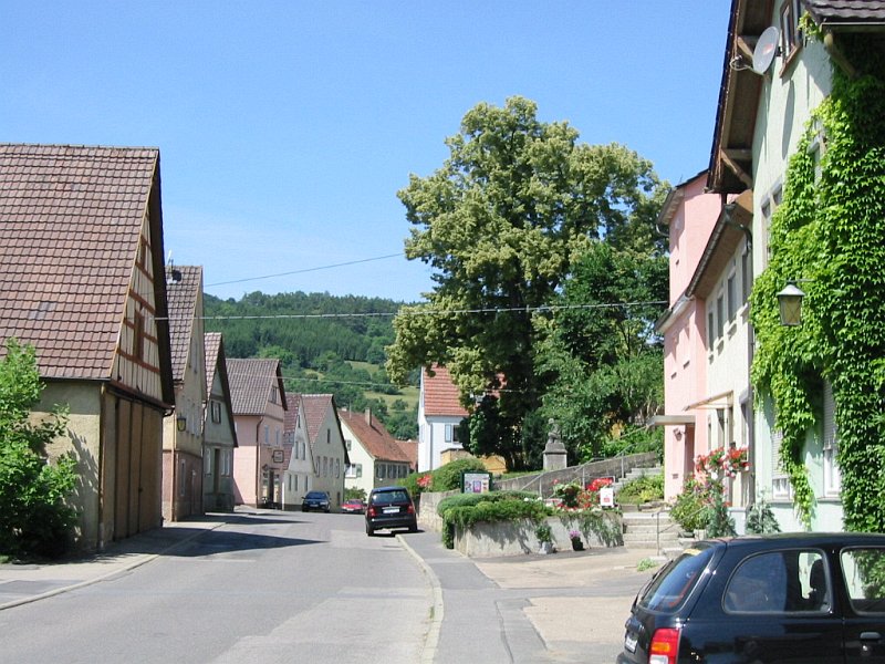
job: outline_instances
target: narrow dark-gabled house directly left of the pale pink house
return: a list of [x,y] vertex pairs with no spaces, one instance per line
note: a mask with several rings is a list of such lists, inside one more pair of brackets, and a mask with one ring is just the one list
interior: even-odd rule
[[204,340],[207,403],[202,425],[202,507],[208,511],[231,511],[237,426],[225,342],[220,332],[207,332]]

